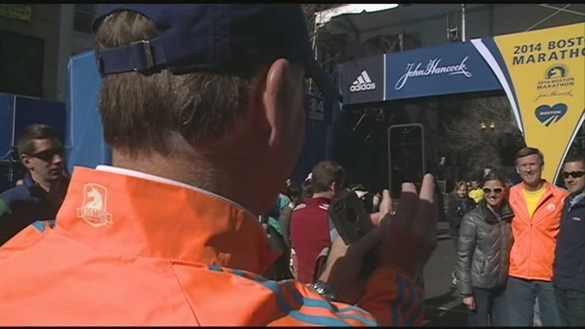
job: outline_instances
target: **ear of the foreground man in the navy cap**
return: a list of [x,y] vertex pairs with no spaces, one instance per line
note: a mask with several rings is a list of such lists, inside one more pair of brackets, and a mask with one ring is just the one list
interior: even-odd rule
[[266,87],[262,102],[270,128],[269,145],[280,144],[284,122],[290,115],[291,102],[295,97],[295,70],[292,63],[278,59],[270,66],[266,76]]

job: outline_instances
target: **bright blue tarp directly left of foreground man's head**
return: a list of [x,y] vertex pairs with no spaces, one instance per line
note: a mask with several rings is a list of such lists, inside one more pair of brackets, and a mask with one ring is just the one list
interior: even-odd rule
[[68,70],[67,126],[65,146],[67,167],[109,165],[112,151],[106,146],[98,110],[101,77],[93,51],[72,56]]

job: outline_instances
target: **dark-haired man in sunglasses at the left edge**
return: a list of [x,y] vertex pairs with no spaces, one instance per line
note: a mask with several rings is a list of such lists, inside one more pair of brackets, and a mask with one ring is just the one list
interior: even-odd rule
[[30,232],[25,232],[26,238],[19,238],[20,242],[31,242],[36,233],[52,226],[66,189],[64,152],[56,129],[42,124],[27,126],[16,146],[28,172],[22,184],[0,194],[0,245],[29,224],[33,224],[26,229]]

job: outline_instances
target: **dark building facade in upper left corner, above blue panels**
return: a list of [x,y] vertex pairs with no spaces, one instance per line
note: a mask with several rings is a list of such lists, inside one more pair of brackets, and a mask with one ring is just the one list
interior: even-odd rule
[[0,92],[66,100],[67,64],[91,50],[94,4],[0,4]]

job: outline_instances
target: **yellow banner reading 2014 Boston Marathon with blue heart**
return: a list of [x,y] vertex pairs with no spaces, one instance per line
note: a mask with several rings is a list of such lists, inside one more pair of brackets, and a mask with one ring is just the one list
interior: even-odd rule
[[472,40],[554,182],[585,118],[585,23]]

